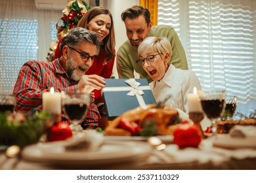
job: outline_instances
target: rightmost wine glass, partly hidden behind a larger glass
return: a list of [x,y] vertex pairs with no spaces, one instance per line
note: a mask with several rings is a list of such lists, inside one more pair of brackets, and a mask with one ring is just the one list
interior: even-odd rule
[[234,95],[233,97],[226,98],[226,107],[221,116],[221,120],[232,120],[234,113],[236,112],[236,106],[238,105],[238,97]]

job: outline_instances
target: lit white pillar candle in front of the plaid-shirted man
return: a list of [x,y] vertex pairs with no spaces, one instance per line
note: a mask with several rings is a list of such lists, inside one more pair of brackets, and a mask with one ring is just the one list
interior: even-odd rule
[[43,110],[46,110],[51,114],[60,114],[60,92],[54,92],[53,87],[51,87],[50,92],[43,92]]

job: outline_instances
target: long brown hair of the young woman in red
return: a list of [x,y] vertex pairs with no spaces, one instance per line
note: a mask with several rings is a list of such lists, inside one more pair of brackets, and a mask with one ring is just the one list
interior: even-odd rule
[[113,58],[116,57],[114,22],[113,22],[113,17],[110,11],[104,7],[93,7],[86,12],[86,14],[81,18],[81,20],[79,20],[77,27],[87,28],[88,23],[93,18],[95,18],[95,16],[98,16],[100,14],[108,14],[111,19],[110,33],[104,38],[104,40],[102,40],[102,43],[103,43],[102,47],[104,48],[103,52],[106,57],[105,63],[108,63],[109,61],[111,61]]

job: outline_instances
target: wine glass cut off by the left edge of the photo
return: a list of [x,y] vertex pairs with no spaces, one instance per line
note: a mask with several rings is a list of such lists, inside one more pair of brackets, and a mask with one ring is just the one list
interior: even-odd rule
[[0,112],[7,110],[13,112],[16,105],[16,97],[10,93],[0,93]]

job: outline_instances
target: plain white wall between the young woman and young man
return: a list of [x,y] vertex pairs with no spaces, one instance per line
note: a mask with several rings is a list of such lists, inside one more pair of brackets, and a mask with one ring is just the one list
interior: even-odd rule
[[[112,13],[114,20],[114,28],[116,35],[116,52],[118,48],[127,40],[125,24],[121,21],[121,12],[126,8],[132,7],[133,5],[139,5],[139,0],[104,0],[102,5],[108,8]],[[113,68],[114,76],[117,78],[116,61]]]

